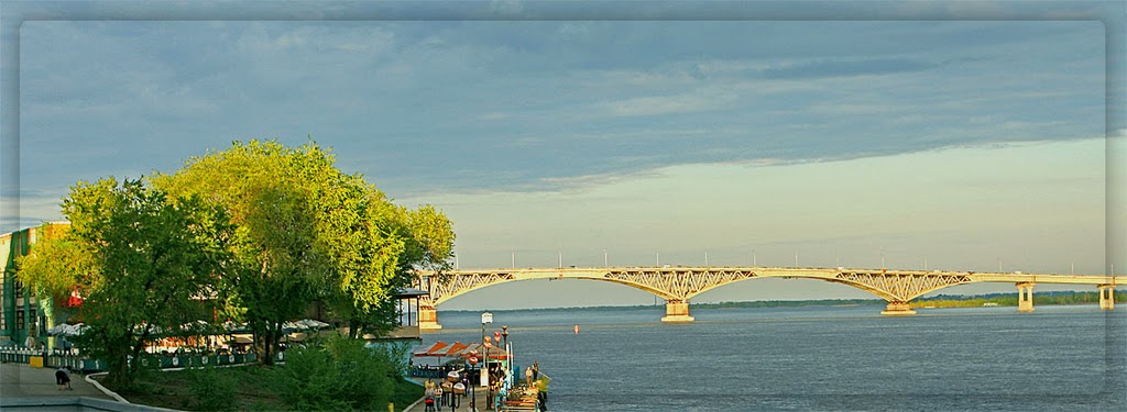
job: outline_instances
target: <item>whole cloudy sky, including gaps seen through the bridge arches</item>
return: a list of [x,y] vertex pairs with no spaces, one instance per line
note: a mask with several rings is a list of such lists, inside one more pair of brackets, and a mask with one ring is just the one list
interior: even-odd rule
[[[463,269],[1127,271],[1121,5],[820,6],[7,3],[0,225],[274,138],[442,209]],[[941,293],[987,292],[1015,288]],[[857,297],[770,279],[694,302]],[[648,303],[526,281],[440,310]]]

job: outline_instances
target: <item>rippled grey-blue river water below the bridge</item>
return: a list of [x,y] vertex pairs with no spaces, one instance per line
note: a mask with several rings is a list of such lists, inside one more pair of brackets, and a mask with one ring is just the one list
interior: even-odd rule
[[[489,330],[552,377],[552,411],[1127,411],[1121,305],[881,308],[495,311]],[[479,313],[438,320],[424,344],[480,340]]]

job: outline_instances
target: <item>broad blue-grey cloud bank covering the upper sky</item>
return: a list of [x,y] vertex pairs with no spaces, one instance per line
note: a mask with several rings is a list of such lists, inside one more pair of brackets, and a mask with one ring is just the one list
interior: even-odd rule
[[1045,26],[32,21],[21,132],[83,173],[312,134],[392,195],[1091,135],[1101,32]]

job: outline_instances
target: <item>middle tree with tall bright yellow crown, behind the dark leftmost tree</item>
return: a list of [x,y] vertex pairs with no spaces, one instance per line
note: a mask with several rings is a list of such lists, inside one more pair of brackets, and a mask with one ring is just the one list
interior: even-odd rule
[[204,196],[230,212],[238,225],[232,253],[241,268],[230,303],[242,312],[266,364],[285,335],[283,324],[301,316],[327,286],[331,268],[318,238],[319,203],[337,174],[316,146],[251,141],[192,158],[174,174],[153,179],[169,192]]

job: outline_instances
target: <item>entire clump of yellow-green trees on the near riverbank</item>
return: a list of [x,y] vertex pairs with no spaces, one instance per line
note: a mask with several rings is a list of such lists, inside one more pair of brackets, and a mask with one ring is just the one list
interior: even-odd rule
[[196,321],[248,322],[266,362],[312,305],[353,337],[387,333],[391,294],[447,268],[454,242],[433,206],[392,204],[314,143],[236,142],[171,173],[79,181],[62,214],[70,230],[39,239],[19,279],[54,303],[77,285],[90,330],[76,342],[124,380],[145,340]]

